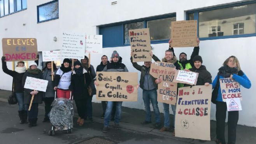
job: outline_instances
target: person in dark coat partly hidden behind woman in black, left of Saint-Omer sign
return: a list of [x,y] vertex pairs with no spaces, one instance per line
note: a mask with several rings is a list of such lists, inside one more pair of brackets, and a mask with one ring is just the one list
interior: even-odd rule
[[[96,77],[96,73],[95,73],[95,70],[94,70],[94,67],[93,65],[90,64],[89,66],[89,60],[88,60],[88,57],[87,56],[84,56],[84,59],[81,59],[81,62],[82,62],[82,67],[89,72],[90,76],[92,79],[94,79]],[[91,83],[90,83],[90,87],[92,89],[92,92],[91,92],[91,95],[89,95],[88,99],[87,99],[87,111],[85,111],[85,119],[88,117],[89,120],[93,120],[93,106],[92,106],[92,103],[91,103],[91,100],[93,99],[93,95],[96,94],[96,88],[95,88],[95,85],[93,83],[94,81],[92,80]]]

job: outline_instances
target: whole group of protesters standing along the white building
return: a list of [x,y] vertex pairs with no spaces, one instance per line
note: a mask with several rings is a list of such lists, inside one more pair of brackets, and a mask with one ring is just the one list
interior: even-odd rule
[[[207,71],[206,67],[202,65],[202,57],[199,56],[199,43],[200,40],[197,38],[198,47],[194,47],[191,59],[187,59],[187,54],[182,52],[179,55],[179,60],[174,54],[174,49],[171,47],[172,40],[169,41],[169,49],[165,51],[165,57],[161,60],[162,62],[172,63],[172,67],[177,70],[193,71],[199,73],[196,85],[206,85],[212,84],[212,88],[215,88],[217,81],[220,78],[231,78],[237,81],[245,88],[251,87],[251,82],[241,70],[239,61],[237,57],[228,57],[221,68],[217,76],[212,82],[212,76]],[[160,61],[152,52],[150,52],[151,57],[154,61]],[[144,62],[143,66],[133,62],[133,52],[131,52],[131,62],[134,68],[141,72],[139,87],[142,88],[142,98],[144,101],[144,106],[146,109],[146,118],[141,124],[152,123],[151,121],[151,109],[150,102],[153,106],[155,114],[155,126],[160,127],[160,112],[158,108],[157,101],[157,89],[158,83],[162,82],[161,78],[154,78],[149,74],[151,61]],[[122,63],[122,57],[119,56],[116,50],[111,55],[110,62],[107,56],[103,55],[101,57],[102,62],[97,66],[96,71],[112,71],[112,72],[128,72],[126,66]],[[75,104],[77,106],[77,112],[79,118],[77,120],[78,125],[84,125],[84,119],[89,118],[92,120],[92,97],[96,94],[95,85],[98,86],[96,81],[96,73],[94,67],[88,63],[88,57],[84,57],[81,61],[75,61],[74,66],[71,66],[70,59],[64,59],[63,64],[59,69],[53,63],[53,72],[51,71],[51,62],[46,62],[46,66],[42,69],[37,68],[37,63],[31,62],[28,69],[25,67],[25,63],[20,61],[17,63],[15,71],[11,71],[7,68],[5,57],[2,57],[2,69],[8,75],[13,77],[14,92],[19,104],[19,118],[21,124],[28,123],[29,127],[37,125],[37,115],[38,115],[38,105],[44,101],[45,103],[45,118],[43,122],[49,121],[48,113],[51,110],[51,103],[54,100],[54,90],[56,90],[57,97],[70,99],[73,95]],[[53,75],[54,81],[51,80]],[[26,77],[30,76],[33,78],[40,78],[48,80],[48,85],[46,92],[40,92],[37,90],[24,88]],[[179,87],[186,87],[182,83],[178,83]],[[224,130],[225,130],[225,119],[226,119],[226,102],[223,102],[221,96],[221,88],[219,85],[218,95],[216,99],[216,143],[225,144]],[[35,95],[30,111],[28,107],[32,95]],[[102,132],[109,131],[109,122],[114,119],[114,128],[119,130],[119,121],[121,120],[121,107],[122,102],[111,102],[102,101],[104,118],[104,127]],[[160,132],[164,132],[170,129],[170,112],[169,104],[163,103],[164,108],[164,125],[160,129]],[[175,111],[176,106],[171,105],[172,111],[174,113],[174,123],[175,123]],[[28,122],[27,122],[28,117]],[[228,111],[228,143],[235,144],[236,140],[236,127],[238,122],[238,111]],[[174,124],[175,125],[175,124]],[[173,132],[175,135],[175,130]],[[203,142],[203,141],[201,141]]]

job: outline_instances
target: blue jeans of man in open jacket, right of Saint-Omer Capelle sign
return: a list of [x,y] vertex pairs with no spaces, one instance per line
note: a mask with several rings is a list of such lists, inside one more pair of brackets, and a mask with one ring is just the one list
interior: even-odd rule
[[143,90],[142,93],[144,106],[146,109],[146,121],[151,121],[151,110],[150,110],[150,101],[153,106],[153,110],[155,113],[155,121],[156,123],[160,123],[160,112],[158,109],[158,102],[157,102],[157,92],[156,89],[153,90]]

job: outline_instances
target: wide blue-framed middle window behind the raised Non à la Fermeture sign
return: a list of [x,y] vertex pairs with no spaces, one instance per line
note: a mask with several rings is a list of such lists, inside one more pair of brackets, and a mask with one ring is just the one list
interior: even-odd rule
[[171,22],[176,21],[175,16],[175,14],[168,14],[99,26],[103,47],[130,45],[129,30],[140,28],[149,28],[151,43],[168,42],[171,35]]

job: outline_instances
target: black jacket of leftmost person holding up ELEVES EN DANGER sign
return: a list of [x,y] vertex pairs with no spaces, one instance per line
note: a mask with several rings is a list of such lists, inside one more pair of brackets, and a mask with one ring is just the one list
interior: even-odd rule
[[2,69],[3,69],[4,73],[12,76],[12,78],[13,78],[12,82],[14,82],[14,92],[17,92],[17,93],[24,92],[24,87],[22,85],[22,77],[23,77],[24,73],[18,73],[16,71],[9,70],[7,68],[5,61],[2,61]]

